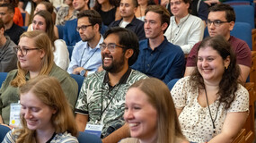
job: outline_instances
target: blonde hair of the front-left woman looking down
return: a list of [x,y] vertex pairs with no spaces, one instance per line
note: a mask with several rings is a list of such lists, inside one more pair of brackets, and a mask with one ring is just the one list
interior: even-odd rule
[[[75,116],[71,110],[65,94],[60,86],[59,81],[54,77],[40,75],[29,80],[19,89],[20,94],[28,92],[33,93],[40,101],[55,109],[56,114],[52,114],[51,123],[56,133],[63,133],[65,131],[77,136],[78,130],[75,124]],[[26,120],[21,114],[22,129],[15,130],[14,134],[18,133],[17,143],[30,143],[35,141],[35,130],[30,130],[27,127]]]

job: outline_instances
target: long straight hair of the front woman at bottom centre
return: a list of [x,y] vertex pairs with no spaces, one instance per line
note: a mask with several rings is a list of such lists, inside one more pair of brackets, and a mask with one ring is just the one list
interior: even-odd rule
[[139,88],[143,91],[157,112],[157,143],[174,143],[179,139],[185,139],[170,90],[163,81],[155,78],[138,80],[130,88]]

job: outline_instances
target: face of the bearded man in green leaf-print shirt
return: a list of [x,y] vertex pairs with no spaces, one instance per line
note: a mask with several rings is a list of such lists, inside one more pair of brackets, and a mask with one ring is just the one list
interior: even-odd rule
[[[116,34],[110,34],[104,39],[103,44],[116,44],[119,45],[119,37]],[[123,49],[116,46],[113,52],[110,52],[108,48],[102,50],[102,67],[106,71],[117,73],[124,68],[126,63]],[[128,62],[127,62],[128,63]]]

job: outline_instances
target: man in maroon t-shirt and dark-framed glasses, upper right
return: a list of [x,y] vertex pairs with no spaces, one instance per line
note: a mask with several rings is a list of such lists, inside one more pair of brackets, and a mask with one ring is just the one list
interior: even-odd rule
[[[222,35],[228,41],[236,55],[237,63],[240,67],[240,80],[245,82],[252,64],[252,54],[250,47],[242,39],[234,38],[230,35],[230,31],[234,28],[235,14],[234,9],[228,4],[216,4],[209,8],[207,19],[207,29],[210,37]],[[196,69],[197,43],[190,51],[187,58],[186,71],[184,76],[188,76]]]

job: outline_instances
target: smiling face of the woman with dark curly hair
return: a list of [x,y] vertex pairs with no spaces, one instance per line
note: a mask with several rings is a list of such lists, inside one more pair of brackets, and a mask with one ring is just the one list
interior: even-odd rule
[[210,46],[199,49],[198,70],[205,81],[219,82],[225,67],[230,63],[229,56],[224,60],[215,49]]

